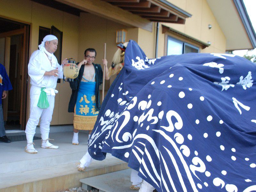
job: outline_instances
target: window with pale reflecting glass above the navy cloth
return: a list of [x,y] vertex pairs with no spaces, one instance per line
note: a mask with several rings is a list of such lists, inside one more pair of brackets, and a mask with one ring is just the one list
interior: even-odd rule
[[198,53],[199,47],[185,43],[171,36],[167,37],[167,55],[180,55],[191,52]]

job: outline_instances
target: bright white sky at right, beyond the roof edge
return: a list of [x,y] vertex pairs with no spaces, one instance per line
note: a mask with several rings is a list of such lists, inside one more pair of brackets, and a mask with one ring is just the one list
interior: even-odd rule
[[[252,27],[254,28],[254,31],[256,31],[256,0],[244,0],[244,5],[252,22]],[[237,50],[234,51],[233,54],[243,57],[246,54],[246,52],[247,50]],[[256,55],[256,49],[254,49],[251,52],[248,52],[248,55]]]

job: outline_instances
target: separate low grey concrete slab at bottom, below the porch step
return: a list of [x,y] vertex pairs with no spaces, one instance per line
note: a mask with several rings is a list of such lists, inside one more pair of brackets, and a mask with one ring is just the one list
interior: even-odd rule
[[82,189],[90,190],[92,187],[99,189],[99,192],[134,192],[130,189],[131,169],[111,172],[94,177],[80,179]]

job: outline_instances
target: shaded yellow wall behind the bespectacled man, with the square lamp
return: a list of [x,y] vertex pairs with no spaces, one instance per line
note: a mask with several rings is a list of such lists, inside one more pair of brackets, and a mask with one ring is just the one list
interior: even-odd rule
[[[85,49],[94,48],[97,52],[97,56],[94,62],[102,64],[102,59],[104,57],[104,43],[106,43],[106,59],[108,60],[109,68],[111,66],[112,57],[117,50],[116,31],[120,29],[127,30],[127,41],[132,39],[138,42],[139,28],[129,28],[127,26],[124,26],[111,20],[107,20],[97,15],[92,15],[90,13],[81,13],[79,21],[78,61],[84,59]],[[115,77],[116,76],[112,76],[110,77],[110,80],[105,81],[105,89],[109,88],[110,84],[114,81]],[[102,89],[102,87],[100,87],[100,89]]]

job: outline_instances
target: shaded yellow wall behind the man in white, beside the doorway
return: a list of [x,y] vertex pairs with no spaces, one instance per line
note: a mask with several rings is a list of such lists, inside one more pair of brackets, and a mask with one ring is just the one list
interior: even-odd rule
[[[30,47],[29,56],[38,49],[39,26],[51,28],[55,26],[63,31],[62,60],[66,57],[78,58],[78,33],[79,17],[62,12],[28,0],[1,0],[0,17],[4,16],[10,20],[30,23]],[[68,113],[68,101],[71,89],[68,83],[58,83],[56,89],[59,91],[55,96],[55,106],[52,116],[52,125],[72,124],[73,114]],[[29,97],[29,91],[28,91]],[[29,102],[27,107],[27,118],[29,116]]]

